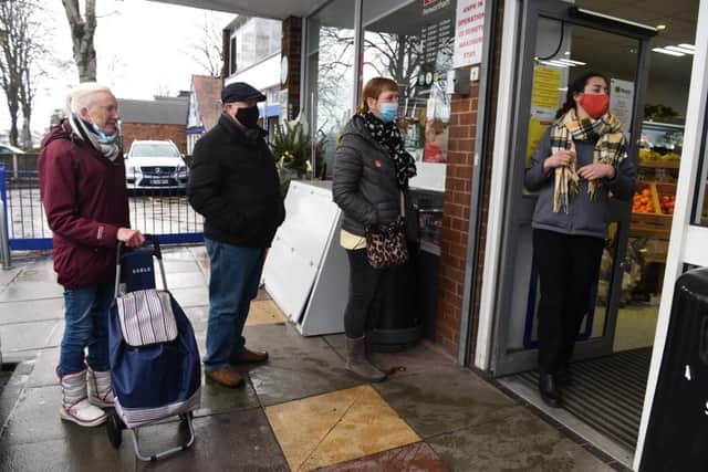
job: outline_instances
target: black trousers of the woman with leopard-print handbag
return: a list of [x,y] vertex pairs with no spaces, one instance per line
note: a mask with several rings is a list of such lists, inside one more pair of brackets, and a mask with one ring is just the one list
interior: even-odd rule
[[368,326],[375,325],[371,319],[374,301],[379,292],[385,291],[393,282],[392,269],[376,270],[366,259],[366,249],[346,250],[350,260],[350,300],[344,311],[344,334],[350,338],[360,338]]

